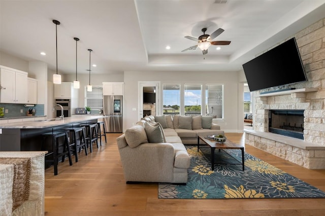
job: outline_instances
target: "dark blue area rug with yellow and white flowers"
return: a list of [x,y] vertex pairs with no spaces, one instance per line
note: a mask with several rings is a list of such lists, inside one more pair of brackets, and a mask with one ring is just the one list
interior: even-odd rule
[[[216,150],[214,171],[209,148],[198,152],[186,146],[191,157],[186,185],[159,183],[158,198],[231,199],[231,198],[325,198],[325,192],[297,179],[263,160],[245,153],[245,170],[240,150]],[[236,158],[239,161],[236,161]]]

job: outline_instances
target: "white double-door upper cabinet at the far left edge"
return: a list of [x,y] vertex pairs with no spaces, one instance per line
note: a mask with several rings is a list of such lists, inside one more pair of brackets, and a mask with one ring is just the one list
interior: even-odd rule
[[27,73],[1,66],[1,86],[6,88],[0,90],[1,103],[27,103]]

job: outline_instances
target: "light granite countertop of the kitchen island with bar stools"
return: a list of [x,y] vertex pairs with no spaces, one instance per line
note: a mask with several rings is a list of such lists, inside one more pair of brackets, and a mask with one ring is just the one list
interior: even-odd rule
[[22,121],[22,122],[14,122],[2,124],[0,128],[7,129],[34,129],[34,128],[46,128],[59,126],[70,123],[77,123],[81,121],[94,120],[98,118],[103,118],[103,115],[73,115],[72,117],[66,117],[63,120],[60,118],[46,119],[46,120],[36,120],[36,121]]

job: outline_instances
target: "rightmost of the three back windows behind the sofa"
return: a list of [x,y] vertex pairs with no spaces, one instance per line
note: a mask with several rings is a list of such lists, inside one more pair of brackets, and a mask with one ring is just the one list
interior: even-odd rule
[[223,85],[207,84],[205,91],[206,114],[223,118]]

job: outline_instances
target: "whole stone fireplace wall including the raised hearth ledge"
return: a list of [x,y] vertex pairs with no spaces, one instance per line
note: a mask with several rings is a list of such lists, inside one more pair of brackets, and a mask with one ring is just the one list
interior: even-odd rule
[[[317,144],[325,147],[325,18],[301,30],[294,36],[297,40],[308,81],[291,84],[288,87],[296,89],[316,88],[316,91],[255,97],[253,130],[268,133],[269,109],[302,109],[305,110],[304,141],[306,147],[297,148],[287,144],[287,142],[279,142],[272,138],[265,139],[256,133],[246,133],[246,144],[306,168],[325,169],[325,150],[323,148],[309,149],[308,146]],[[255,93],[255,96],[257,95],[259,92]],[[295,141],[293,140],[293,142]]]

